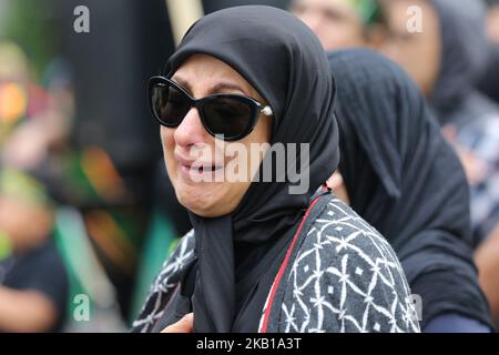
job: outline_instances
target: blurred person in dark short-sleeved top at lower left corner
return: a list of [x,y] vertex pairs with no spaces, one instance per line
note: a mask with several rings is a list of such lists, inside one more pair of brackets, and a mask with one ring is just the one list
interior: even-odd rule
[[43,184],[0,171],[0,332],[58,332],[68,277],[53,231],[53,202]]

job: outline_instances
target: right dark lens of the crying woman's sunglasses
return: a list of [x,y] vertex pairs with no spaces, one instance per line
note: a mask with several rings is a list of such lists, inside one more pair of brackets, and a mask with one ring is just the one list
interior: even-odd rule
[[225,140],[234,140],[249,131],[254,109],[236,99],[216,98],[205,102],[203,115],[212,134],[223,134]]

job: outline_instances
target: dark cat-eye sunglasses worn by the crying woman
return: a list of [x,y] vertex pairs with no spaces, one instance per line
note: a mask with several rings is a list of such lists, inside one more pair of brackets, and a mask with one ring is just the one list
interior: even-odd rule
[[271,116],[271,106],[238,94],[214,94],[194,99],[185,89],[164,77],[149,81],[149,101],[160,124],[176,128],[189,111],[196,108],[204,129],[212,135],[223,135],[225,141],[237,141],[248,135],[256,125],[259,113]]

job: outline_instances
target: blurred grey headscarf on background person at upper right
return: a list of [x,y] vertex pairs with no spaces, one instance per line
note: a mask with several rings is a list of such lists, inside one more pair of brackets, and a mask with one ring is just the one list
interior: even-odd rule
[[485,71],[489,47],[482,0],[431,0],[440,22],[440,72],[431,104],[441,124],[461,125],[490,110],[475,89]]

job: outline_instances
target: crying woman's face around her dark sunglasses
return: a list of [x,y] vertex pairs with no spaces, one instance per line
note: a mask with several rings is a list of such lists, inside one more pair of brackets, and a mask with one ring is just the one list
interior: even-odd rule
[[[173,74],[172,80],[195,99],[216,93],[234,93],[266,104],[241,74],[210,55],[191,57]],[[264,153],[251,149],[251,144],[268,143],[271,126],[271,119],[261,114],[252,133],[237,142],[224,142],[203,128],[195,108],[189,111],[177,128],[161,126],[166,170],[180,203],[204,217],[233,212],[263,160]],[[236,170],[241,172],[241,169],[245,171],[245,179],[233,179],[231,174]]]

